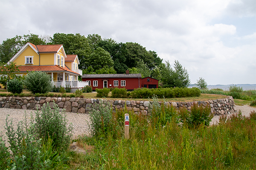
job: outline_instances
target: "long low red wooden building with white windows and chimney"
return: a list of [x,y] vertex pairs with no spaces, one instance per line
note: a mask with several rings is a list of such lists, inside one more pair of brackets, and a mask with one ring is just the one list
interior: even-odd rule
[[93,90],[96,88],[141,88],[141,74],[84,74],[82,81],[88,82]]

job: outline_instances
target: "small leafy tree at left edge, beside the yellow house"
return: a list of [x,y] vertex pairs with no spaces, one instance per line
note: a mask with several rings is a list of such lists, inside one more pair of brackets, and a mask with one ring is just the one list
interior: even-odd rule
[[0,83],[3,84],[4,88],[6,88],[6,83],[10,79],[14,79],[17,77],[17,72],[19,72],[19,68],[15,65],[16,63],[1,63],[0,64]]

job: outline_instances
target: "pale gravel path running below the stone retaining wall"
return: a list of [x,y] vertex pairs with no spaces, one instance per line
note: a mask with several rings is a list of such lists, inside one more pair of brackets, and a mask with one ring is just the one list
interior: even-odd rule
[[[236,105],[236,110],[241,110],[243,116],[249,116],[251,111],[256,111],[256,108],[250,107],[248,105]],[[4,128],[6,123],[6,116],[9,115],[9,119],[12,119],[13,125],[16,127],[17,123],[23,120],[25,111],[28,114],[29,118],[31,112],[34,113],[33,115],[35,116],[35,111],[32,110],[0,108],[0,133],[2,132],[2,134],[4,134],[4,140],[6,140],[6,129]],[[210,124],[217,124],[219,117],[220,116],[214,116]],[[73,139],[76,139],[79,135],[89,135],[89,114],[67,113],[67,120],[73,125]]]

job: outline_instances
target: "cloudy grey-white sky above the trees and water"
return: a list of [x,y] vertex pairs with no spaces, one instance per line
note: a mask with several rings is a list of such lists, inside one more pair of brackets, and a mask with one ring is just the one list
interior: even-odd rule
[[137,42],[192,84],[256,84],[256,0],[0,0],[0,42],[29,31]]

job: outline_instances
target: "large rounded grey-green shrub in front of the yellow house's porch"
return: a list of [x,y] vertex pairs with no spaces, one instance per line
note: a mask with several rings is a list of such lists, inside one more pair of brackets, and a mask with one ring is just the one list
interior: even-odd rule
[[32,71],[26,75],[24,85],[33,94],[48,93],[52,90],[52,78],[42,71]]

